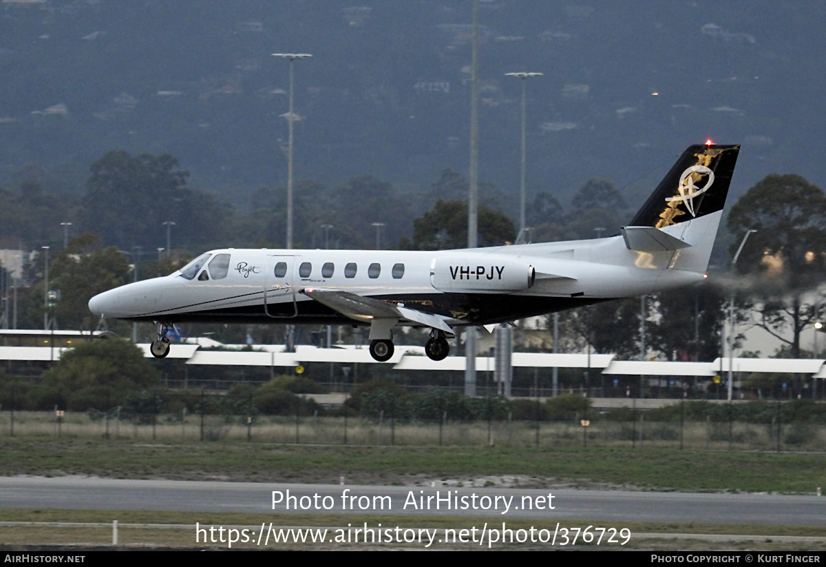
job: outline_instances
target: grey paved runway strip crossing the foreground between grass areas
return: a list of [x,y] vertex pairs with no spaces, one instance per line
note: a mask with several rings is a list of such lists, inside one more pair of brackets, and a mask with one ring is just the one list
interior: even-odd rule
[[[287,490],[289,490],[290,497],[295,497],[295,500],[290,499],[290,509],[292,511],[297,505],[298,512],[354,514],[380,512],[403,515],[583,519],[604,522],[826,525],[826,498],[818,498],[814,495],[337,486],[74,477],[0,478],[0,507],[173,512],[286,512]],[[345,493],[345,490],[348,492]],[[454,490],[458,492],[453,492]],[[274,511],[273,491],[278,491],[283,495]],[[436,498],[432,498],[430,510],[426,509],[427,497],[435,497],[437,491],[442,498],[439,508],[436,509]],[[450,506],[444,501],[448,493],[451,497]],[[549,493],[553,494],[550,500],[548,499]],[[473,494],[476,498],[473,498]],[[342,498],[343,495],[346,498]],[[389,497],[389,499],[373,497]],[[420,500],[420,497],[424,498]],[[467,498],[457,501],[453,499],[455,497]],[[509,497],[513,498],[508,500]],[[280,497],[276,494],[275,498],[278,500]],[[415,498],[417,507],[420,503],[424,503],[425,509],[417,510],[413,507],[410,504],[411,498]],[[406,502],[407,507],[405,507]],[[529,502],[533,510],[525,509]],[[455,506],[457,503],[459,509]],[[463,507],[463,503],[467,506]],[[302,504],[303,507],[309,506],[310,508],[301,509]],[[381,505],[384,506],[383,512]],[[552,505],[553,509],[548,509],[548,505]],[[325,509],[325,506],[328,508]],[[485,506],[489,506],[489,509],[482,509]],[[509,508],[506,514],[502,514],[506,511],[506,506]],[[365,509],[359,509],[360,507]]]

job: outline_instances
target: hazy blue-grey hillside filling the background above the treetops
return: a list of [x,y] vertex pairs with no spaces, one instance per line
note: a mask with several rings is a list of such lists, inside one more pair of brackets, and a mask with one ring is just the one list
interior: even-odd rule
[[[36,166],[80,193],[107,150],[169,153],[247,207],[286,183],[271,54],[306,52],[297,179],[423,192],[468,169],[470,21],[469,0],[2,0],[0,184]],[[527,84],[529,193],[565,201],[603,177],[638,203],[707,137],[743,144],[734,197],[769,173],[826,178],[823,2],[490,0],[480,21],[480,178],[505,193],[520,135],[505,74],[522,70],[544,73]]]

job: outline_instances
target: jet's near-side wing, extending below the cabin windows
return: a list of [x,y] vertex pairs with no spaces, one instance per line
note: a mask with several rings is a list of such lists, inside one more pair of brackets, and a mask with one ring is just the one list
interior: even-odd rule
[[301,289],[308,298],[330,307],[356,321],[373,322],[375,319],[404,319],[420,325],[430,326],[453,335],[453,329],[446,322],[447,317],[425,313],[410,307],[398,307],[381,299],[365,298],[355,293],[306,288]]

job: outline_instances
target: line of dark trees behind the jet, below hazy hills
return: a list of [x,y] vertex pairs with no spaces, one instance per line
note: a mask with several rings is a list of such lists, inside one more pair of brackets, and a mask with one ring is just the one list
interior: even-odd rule
[[[169,274],[202,250],[282,246],[282,188],[259,189],[250,210],[241,211],[213,193],[189,187],[188,179],[172,156],[111,151],[93,164],[81,197],[44,193],[36,180],[23,181],[17,192],[0,189],[0,241],[10,248],[24,237],[32,248],[52,245],[49,287],[61,292],[53,312],[61,328],[95,326],[86,307],[92,295],[132,279]],[[401,191],[371,176],[348,179],[336,188],[300,181],[295,189],[296,241],[305,248],[371,249],[377,239],[380,248],[461,247],[467,238],[467,191],[467,179],[450,169],[418,192]],[[480,195],[480,243],[515,241],[504,194],[482,183]],[[627,213],[622,193],[605,179],[583,184],[568,207],[553,193],[540,191],[528,209],[529,240],[610,236]],[[58,244],[60,222],[72,222],[72,232],[80,234],[64,249]],[[733,301],[738,322],[762,326],[786,344],[780,355],[812,355],[800,336],[824,315],[818,288],[826,274],[826,196],[821,188],[793,174],[769,175],[732,204],[725,228],[729,258],[743,236],[755,231],[736,269],[718,251],[720,265],[702,284],[659,293],[644,303],[632,298],[563,312],[563,351],[590,348],[625,359],[714,360],[722,350],[721,331]],[[165,248],[168,229],[172,255],[157,250]],[[45,255],[26,266],[26,280],[31,285],[20,290],[18,326],[37,328],[43,317]],[[113,325],[128,332],[122,324]],[[247,336],[280,341],[274,328],[215,327],[197,331],[230,342]]]

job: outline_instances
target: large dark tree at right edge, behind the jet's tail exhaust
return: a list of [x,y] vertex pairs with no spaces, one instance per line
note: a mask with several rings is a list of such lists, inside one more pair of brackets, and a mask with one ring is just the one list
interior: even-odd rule
[[[757,324],[800,356],[800,334],[819,319],[807,292],[826,275],[826,195],[800,175],[768,175],[738,200],[729,213],[729,231],[756,230],[738,259],[740,274],[754,279]],[[788,338],[790,332],[791,338]]]

